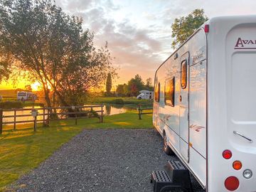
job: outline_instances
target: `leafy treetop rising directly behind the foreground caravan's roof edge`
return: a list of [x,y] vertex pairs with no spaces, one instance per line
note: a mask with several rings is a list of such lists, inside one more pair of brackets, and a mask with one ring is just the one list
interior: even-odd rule
[[173,48],[181,46],[207,20],[208,17],[204,14],[203,9],[195,9],[186,17],[175,18],[174,23],[171,25],[171,37],[174,38],[171,46]]

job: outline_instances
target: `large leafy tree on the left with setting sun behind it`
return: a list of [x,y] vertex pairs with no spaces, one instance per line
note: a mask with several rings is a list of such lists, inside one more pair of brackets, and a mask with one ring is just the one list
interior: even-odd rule
[[51,0],[0,0],[0,48],[9,64],[41,82],[48,106],[50,92],[60,105],[78,105],[114,73],[107,47],[96,50],[82,19]]

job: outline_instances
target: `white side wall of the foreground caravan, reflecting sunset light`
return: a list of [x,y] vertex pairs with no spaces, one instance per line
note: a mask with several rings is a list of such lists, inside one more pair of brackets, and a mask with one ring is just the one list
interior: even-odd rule
[[[181,87],[183,60],[188,65],[186,90]],[[164,90],[166,82],[173,78],[174,105],[168,105],[164,102]],[[202,29],[156,71],[155,89],[159,83],[160,101],[154,101],[154,126],[161,134],[166,133],[169,146],[201,185],[206,186],[206,34]]]

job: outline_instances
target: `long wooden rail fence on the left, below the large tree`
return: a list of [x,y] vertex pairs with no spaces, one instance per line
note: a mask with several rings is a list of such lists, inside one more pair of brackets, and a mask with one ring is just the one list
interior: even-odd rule
[[[100,110],[94,110],[95,108]],[[87,110],[89,109],[89,110]],[[17,112],[29,112],[28,114],[17,114]],[[13,112],[11,115],[4,115],[4,112]],[[75,119],[75,124],[78,124],[78,119],[89,117],[88,114],[97,113],[100,122],[103,122],[103,105],[88,105],[88,106],[70,106],[70,107],[43,107],[43,108],[29,108],[29,109],[11,109],[3,110],[0,109],[0,134],[3,132],[4,124],[13,124],[14,130],[16,124],[33,123],[33,129],[36,131],[36,124],[43,122],[43,126],[49,125],[50,121],[64,120],[64,119]],[[99,114],[100,113],[100,114]],[[58,118],[51,118],[51,117]],[[18,117],[32,117],[27,120],[17,120]],[[38,117],[42,117],[38,119]],[[63,118],[64,117],[64,118]],[[11,121],[4,121],[7,118],[11,118]]]

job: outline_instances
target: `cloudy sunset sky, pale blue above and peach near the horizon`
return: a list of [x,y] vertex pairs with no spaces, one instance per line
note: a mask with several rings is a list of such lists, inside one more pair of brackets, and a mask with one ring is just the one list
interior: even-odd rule
[[[154,79],[154,71],[173,52],[171,23],[194,9],[214,16],[256,14],[255,0],[56,0],[68,14],[81,16],[84,28],[95,32],[95,46],[108,42],[119,79],[134,75]],[[18,87],[26,84],[21,82]],[[2,83],[0,89],[11,87]]]

